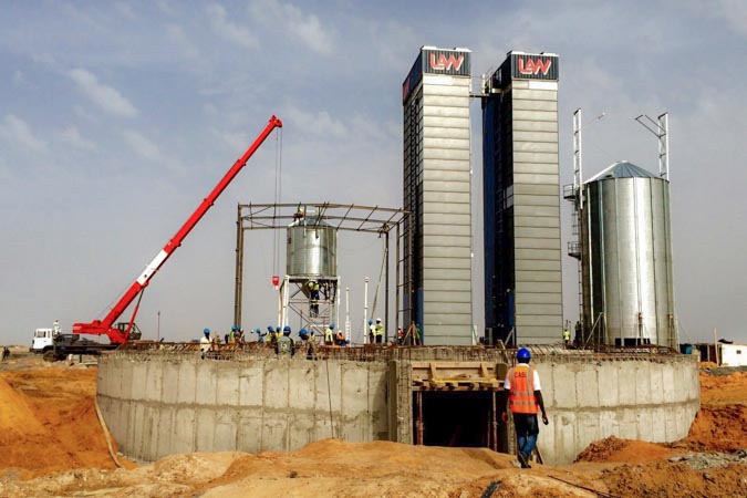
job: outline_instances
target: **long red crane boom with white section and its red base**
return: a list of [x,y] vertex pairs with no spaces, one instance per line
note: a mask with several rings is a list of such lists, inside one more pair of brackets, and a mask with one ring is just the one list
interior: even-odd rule
[[95,335],[108,335],[110,341],[113,344],[121,344],[129,338],[129,332],[132,330],[133,319],[129,322],[129,326],[126,330],[114,328],[114,322],[124,313],[124,311],[132,304],[137,294],[139,294],[149,283],[151,279],[156,274],[158,269],[164,266],[168,258],[174,253],[174,251],[181,245],[184,239],[189,235],[193,228],[203,219],[203,216],[210,209],[216,199],[222,194],[222,191],[228,187],[231,180],[238,175],[238,173],[243,168],[249,158],[255,154],[264,139],[272,133],[274,128],[282,127],[282,122],[276,116],[270,117],[270,122],[259,134],[255,143],[243,153],[241,157],[234,163],[234,166],[226,173],[226,175],[218,181],[218,185],[215,186],[212,191],[203,200],[203,203],[197,207],[195,212],[185,221],[185,224],[179,228],[172,239],[166,242],[166,246],[153,258],[146,267],[145,270],[137,277],[133,284],[127,289],[127,291],[120,298],[117,303],[112,308],[108,314],[103,320],[94,320],[91,323],[74,323],[73,333],[80,334],[95,334]]

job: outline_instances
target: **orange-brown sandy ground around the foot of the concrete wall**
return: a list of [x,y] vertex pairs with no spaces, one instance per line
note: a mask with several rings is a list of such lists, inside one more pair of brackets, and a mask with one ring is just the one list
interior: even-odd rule
[[561,467],[522,470],[488,449],[326,439],[290,454],[183,454],[116,468],[95,415],[95,366],[14,355],[0,364],[0,496],[747,497],[747,373],[704,367],[701,383],[687,438],[609,437]]

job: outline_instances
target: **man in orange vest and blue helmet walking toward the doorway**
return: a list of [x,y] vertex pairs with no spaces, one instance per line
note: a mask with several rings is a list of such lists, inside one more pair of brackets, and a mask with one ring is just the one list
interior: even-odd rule
[[[513,416],[513,427],[517,437],[517,457],[521,468],[530,468],[529,457],[537,445],[539,435],[539,424],[537,423],[538,407],[542,411],[542,423],[548,425],[548,415],[544,412],[544,402],[542,401],[539,374],[533,366],[529,366],[531,353],[528,349],[521,347],[517,352],[519,362],[512,369],[509,369],[504,382],[504,388],[509,392],[508,403]],[[508,414],[504,412],[502,419],[508,422]]]

